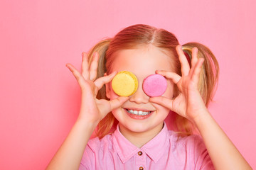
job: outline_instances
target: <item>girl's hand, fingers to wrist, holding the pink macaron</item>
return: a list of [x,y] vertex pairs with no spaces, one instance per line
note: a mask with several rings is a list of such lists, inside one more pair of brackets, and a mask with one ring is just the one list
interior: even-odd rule
[[203,58],[198,59],[198,49],[193,47],[190,68],[186,56],[181,49],[181,45],[176,47],[176,51],[178,52],[178,58],[181,62],[182,77],[174,72],[159,70],[156,70],[156,74],[161,74],[167,79],[174,81],[174,84],[178,86],[178,96],[173,99],[159,96],[150,98],[149,101],[169,108],[171,111],[193,122],[200,113],[203,113],[202,111],[207,111],[206,105],[198,90],[198,80],[204,60]]

